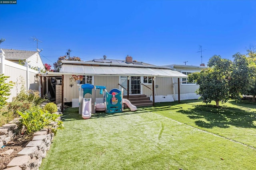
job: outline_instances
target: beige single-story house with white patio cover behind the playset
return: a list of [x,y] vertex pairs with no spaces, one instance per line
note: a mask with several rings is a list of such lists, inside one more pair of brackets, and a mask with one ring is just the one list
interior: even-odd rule
[[[173,78],[187,78],[185,74],[173,68],[134,61],[130,56],[124,61],[106,57],[89,62],[62,61],[60,72],[40,74],[46,77],[61,77],[62,102],[73,102],[74,99],[78,99],[80,86],[72,81],[72,75],[83,75],[81,84],[106,86],[108,92],[113,88],[123,87],[124,95],[129,94],[132,97],[144,94],[151,100],[154,96],[155,102],[174,101]],[[102,99],[102,94],[97,93],[96,98]]]

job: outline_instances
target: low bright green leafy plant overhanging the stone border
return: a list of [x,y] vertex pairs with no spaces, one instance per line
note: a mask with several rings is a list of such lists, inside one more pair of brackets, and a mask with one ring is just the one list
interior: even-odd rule
[[45,127],[52,129],[52,131],[56,133],[55,129],[49,125],[52,121],[58,123],[58,129],[63,128],[62,121],[56,120],[60,115],[55,113],[51,114],[39,106],[31,107],[24,113],[21,111],[17,112],[22,117],[21,123],[26,127],[26,133],[34,133]]

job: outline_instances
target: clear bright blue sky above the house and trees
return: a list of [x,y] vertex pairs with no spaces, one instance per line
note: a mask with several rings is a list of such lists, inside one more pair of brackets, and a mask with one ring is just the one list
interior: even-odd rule
[[[256,45],[255,0],[16,0],[0,4],[0,48],[33,50],[53,64],[71,49],[84,61],[201,64]],[[52,66],[53,68],[53,66]]]

